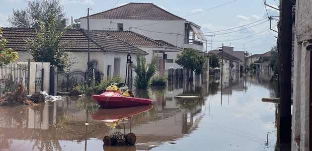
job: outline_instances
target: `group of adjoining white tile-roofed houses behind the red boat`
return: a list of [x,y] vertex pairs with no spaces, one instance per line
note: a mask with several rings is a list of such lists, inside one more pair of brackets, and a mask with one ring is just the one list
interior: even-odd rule
[[[129,3],[89,16],[89,53],[87,17],[75,21],[80,22],[81,29],[68,29],[61,39],[61,43],[69,44],[65,51],[71,52],[69,57],[75,62],[71,70],[86,70],[90,57],[104,77],[123,77],[128,52],[134,63],[136,55],[144,55],[147,62],[158,57],[159,73],[180,68],[175,63],[177,54],[187,48],[203,52],[207,41],[201,27],[192,22],[152,3]],[[25,40],[37,38],[35,29],[3,28],[3,37],[9,41],[6,47],[19,53],[18,61],[32,58]]]

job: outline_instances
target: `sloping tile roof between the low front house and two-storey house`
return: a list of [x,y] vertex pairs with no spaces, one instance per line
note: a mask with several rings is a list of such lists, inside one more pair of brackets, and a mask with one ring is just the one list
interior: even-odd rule
[[133,31],[107,31],[107,30],[94,30],[93,32],[104,33],[115,37],[121,41],[129,43],[130,45],[139,47],[139,46],[155,46],[155,47],[172,47],[174,49],[181,49],[171,43],[168,43],[164,40],[153,40],[146,36],[140,35]]

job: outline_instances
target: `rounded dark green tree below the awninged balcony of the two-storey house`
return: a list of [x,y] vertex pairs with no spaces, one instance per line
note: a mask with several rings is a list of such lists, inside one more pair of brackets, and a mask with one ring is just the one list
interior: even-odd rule
[[[200,55],[195,49],[184,50],[175,60],[177,64],[181,65],[184,69],[190,70],[191,73],[195,71],[196,75],[203,72],[205,61],[205,56]],[[189,77],[189,81],[192,79],[192,75]]]

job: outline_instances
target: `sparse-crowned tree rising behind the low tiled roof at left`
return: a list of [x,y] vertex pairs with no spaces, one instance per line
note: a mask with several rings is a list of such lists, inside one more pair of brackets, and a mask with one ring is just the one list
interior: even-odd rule
[[58,29],[66,26],[67,19],[59,0],[28,1],[28,7],[25,10],[13,10],[8,21],[13,27],[37,29],[41,27],[41,21],[47,26],[51,22],[50,16],[54,17]]

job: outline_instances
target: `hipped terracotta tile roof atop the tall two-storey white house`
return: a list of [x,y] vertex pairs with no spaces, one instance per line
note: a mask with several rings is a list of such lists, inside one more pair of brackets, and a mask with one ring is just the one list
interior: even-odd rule
[[[185,20],[152,3],[129,3],[89,16],[90,19]],[[82,17],[81,19],[87,19]]]

